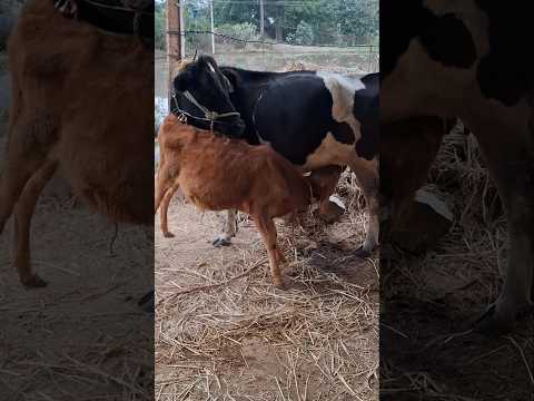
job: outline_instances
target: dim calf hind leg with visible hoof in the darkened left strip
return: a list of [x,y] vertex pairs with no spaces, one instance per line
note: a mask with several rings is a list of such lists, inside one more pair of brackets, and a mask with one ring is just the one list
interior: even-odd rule
[[26,184],[19,202],[14,207],[14,265],[19,271],[20,282],[28,287],[42,287],[47,285],[47,282],[31,271],[30,225],[39,195],[52,177],[56,168],[56,162],[47,162],[37,170]]

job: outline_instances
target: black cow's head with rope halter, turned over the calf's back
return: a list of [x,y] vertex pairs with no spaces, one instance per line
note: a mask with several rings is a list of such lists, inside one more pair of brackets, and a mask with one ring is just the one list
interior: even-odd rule
[[229,98],[229,82],[217,62],[200,56],[175,78],[175,101],[171,110],[185,114],[188,124],[229,137],[240,137],[245,123]]

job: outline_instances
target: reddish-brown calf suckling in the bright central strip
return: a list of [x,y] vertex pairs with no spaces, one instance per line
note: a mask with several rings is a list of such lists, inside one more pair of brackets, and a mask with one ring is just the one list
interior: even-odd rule
[[306,209],[318,192],[283,156],[266,145],[250,146],[221,138],[166,117],[158,135],[161,159],[156,178],[156,202],[161,211],[161,229],[167,229],[167,205],[180,187],[197,207],[207,211],[236,208],[250,215],[269,256],[273,282],[284,287],[279,264],[284,254],[277,246],[275,217]]

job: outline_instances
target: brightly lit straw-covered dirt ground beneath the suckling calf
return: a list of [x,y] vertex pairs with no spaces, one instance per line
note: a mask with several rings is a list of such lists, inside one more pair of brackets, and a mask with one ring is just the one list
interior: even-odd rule
[[330,226],[278,224],[280,291],[251,222],[215,248],[217,215],[174,200],[176,237],[156,231],[157,400],[378,399],[378,267],[354,255],[363,215],[347,207]]

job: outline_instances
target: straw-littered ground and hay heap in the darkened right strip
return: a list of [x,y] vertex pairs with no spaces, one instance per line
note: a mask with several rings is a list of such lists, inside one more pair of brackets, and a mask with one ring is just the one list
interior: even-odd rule
[[455,223],[433,251],[380,261],[380,399],[532,401],[534,313],[505,336],[468,332],[506,263],[505,218],[473,137],[446,137],[431,178]]

